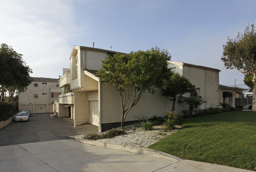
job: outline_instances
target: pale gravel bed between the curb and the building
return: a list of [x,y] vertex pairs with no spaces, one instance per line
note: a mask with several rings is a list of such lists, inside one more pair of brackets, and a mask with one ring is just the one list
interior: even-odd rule
[[[158,142],[159,140],[173,134],[181,128],[180,126],[175,126],[175,130],[164,131],[163,127],[163,125],[156,125],[153,126],[153,130],[146,131],[141,130],[140,124],[127,125],[123,127],[126,134],[115,136],[113,138],[98,139],[97,141],[147,148],[149,145]],[[84,135],[80,135],[76,137],[83,138],[83,136]]]

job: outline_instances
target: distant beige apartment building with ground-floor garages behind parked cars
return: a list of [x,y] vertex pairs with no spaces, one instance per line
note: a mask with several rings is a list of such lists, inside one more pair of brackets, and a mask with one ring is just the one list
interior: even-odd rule
[[35,78],[28,89],[19,94],[19,111],[30,110],[31,113],[53,112],[53,102],[61,94],[58,79]]

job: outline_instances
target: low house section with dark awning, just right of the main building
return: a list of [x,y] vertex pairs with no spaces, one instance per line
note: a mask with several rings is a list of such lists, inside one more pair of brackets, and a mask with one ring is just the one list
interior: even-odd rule
[[225,85],[219,85],[219,102],[228,103],[235,107],[236,89]]

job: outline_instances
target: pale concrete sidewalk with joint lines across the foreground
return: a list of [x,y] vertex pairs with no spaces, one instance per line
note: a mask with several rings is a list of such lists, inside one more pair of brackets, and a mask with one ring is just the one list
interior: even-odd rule
[[[102,146],[67,139],[4,146],[0,147],[0,171],[249,172],[238,168],[182,160],[151,149],[133,147],[124,149],[115,144]],[[122,150],[119,150],[120,148]],[[130,150],[136,150],[138,154]]]

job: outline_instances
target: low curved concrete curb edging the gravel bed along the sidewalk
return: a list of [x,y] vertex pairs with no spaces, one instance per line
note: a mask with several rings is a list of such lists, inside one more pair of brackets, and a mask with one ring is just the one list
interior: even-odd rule
[[73,140],[73,141],[79,141],[82,143],[87,143],[90,145],[105,147],[105,148],[109,148],[109,149],[122,150],[122,151],[131,152],[131,153],[135,153],[135,154],[170,159],[170,160],[173,160],[174,163],[183,161],[183,159],[178,158],[176,156],[167,154],[165,152],[161,152],[159,150],[149,149],[149,148],[130,147],[130,146],[119,145],[119,144],[115,144],[115,143],[107,143],[107,142],[101,142],[101,141],[96,141],[96,140],[86,140],[86,139],[76,138],[74,136],[69,136],[68,139]]

